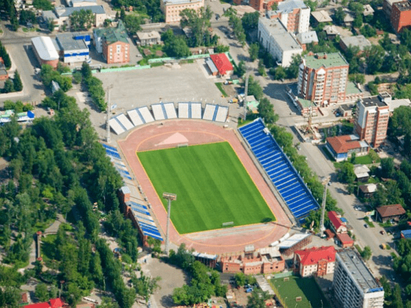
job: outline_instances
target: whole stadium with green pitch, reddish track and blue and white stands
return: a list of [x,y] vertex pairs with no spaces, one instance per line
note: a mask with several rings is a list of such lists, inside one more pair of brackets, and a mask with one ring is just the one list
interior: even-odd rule
[[128,203],[142,235],[165,238],[163,192],[177,194],[170,242],[218,255],[270,246],[319,207],[261,119],[232,129],[227,116],[227,107],[186,102],[110,119],[115,133],[130,131],[119,150],[103,146],[142,192]]

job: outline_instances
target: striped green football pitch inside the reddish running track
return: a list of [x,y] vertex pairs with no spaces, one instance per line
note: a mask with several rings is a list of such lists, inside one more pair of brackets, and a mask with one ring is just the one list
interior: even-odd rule
[[158,196],[177,194],[171,220],[180,234],[275,220],[228,142],[137,154]]

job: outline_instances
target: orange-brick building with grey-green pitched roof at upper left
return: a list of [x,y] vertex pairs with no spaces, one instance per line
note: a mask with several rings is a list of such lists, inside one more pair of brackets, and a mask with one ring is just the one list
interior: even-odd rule
[[130,44],[122,21],[117,27],[95,29],[93,38],[97,52],[103,53],[108,64],[129,62]]

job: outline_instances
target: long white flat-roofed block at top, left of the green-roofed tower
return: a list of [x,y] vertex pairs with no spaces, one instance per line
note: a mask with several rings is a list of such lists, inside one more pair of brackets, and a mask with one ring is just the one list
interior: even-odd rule
[[283,67],[290,65],[293,55],[303,52],[294,36],[278,19],[258,19],[258,41]]

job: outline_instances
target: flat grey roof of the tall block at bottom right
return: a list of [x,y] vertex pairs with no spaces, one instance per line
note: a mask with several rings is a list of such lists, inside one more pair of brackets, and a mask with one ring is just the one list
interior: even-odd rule
[[351,273],[351,277],[360,287],[362,292],[376,292],[384,289],[377,283],[373,274],[365,266],[360,256],[352,250],[345,250],[337,253],[337,260],[341,261],[345,268]]

